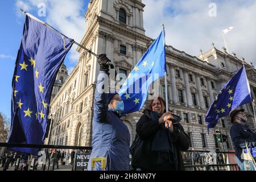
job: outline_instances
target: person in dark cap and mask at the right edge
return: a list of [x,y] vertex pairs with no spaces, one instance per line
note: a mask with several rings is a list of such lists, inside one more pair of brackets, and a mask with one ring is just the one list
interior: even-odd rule
[[236,160],[240,169],[242,169],[243,162],[243,159],[241,159],[242,150],[246,148],[245,142],[249,148],[254,148],[256,146],[255,131],[251,130],[245,125],[247,122],[247,117],[244,111],[244,109],[232,109],[229,113],[232,123],[232,126],[230,127],[230,137],[234,143]]

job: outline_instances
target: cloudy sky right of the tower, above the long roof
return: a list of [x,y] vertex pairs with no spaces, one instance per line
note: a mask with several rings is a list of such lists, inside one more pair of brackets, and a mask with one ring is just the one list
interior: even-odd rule
[[225,47],[222,30],[233,26],[226,34],[229,52],[237,57],[254,61],[256,65],[256,1],[217,1],[217,16],[209,16],[209,4],[212,0],[143,0],[144,28],[151,38],[161,31],[160,23],[166,27],[167,44],[198,56],[214,42],[218,49]]

